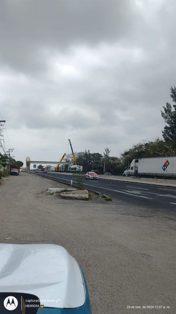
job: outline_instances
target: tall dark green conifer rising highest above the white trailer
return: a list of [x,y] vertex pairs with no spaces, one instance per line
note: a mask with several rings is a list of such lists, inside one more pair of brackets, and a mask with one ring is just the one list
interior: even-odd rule
[[[173,102],[176,104],[176,87],[174,86],[170,88],[171,90],[171,98]],[[161,116],[163,117],[164,121],[168,124],[164,127],[162,131],[163,138],[166,142],[174,141],[176,142],[176,105],[172,106],[170,103],[166,103],[166,107],[163,107],[164,112],[161,111]]]

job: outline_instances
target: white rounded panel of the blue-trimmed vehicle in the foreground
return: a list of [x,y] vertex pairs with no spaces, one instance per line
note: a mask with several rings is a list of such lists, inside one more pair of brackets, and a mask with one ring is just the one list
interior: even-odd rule
[[0,244],[0,291],[36,295],[44,307],[73,309],[85,303],[79,265],[54,244]]

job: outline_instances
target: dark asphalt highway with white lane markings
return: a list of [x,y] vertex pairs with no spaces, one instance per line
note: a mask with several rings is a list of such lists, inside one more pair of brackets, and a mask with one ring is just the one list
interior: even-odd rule
[[[77,176],[70,176],[60,173],[42,173],[44,176],[56,181],[69,183],[78,186]],[[106,179],[86,180],[81,177],[85,188],[92,191],[101,192],[112,198],[116,198],[136,206],[145,206],[151,209],[176,211],[176,188],[153,186],[149,184],[139,184],[131,182],[113,181]]]

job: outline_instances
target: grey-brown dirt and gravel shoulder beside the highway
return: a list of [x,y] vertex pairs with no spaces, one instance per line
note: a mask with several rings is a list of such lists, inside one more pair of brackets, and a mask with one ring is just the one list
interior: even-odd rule
[[175,313],[176,218],[118,200],[41,193],[63,186],[27,173],[4,179],[0,242],[64,246],[85,274],[93,314]]

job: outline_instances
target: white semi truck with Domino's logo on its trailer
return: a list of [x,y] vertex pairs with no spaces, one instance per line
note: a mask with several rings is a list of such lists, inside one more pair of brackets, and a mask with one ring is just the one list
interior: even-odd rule
[[176,156],[133,159],[122,176],[176,177]]

